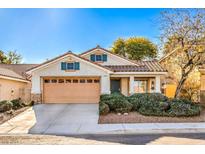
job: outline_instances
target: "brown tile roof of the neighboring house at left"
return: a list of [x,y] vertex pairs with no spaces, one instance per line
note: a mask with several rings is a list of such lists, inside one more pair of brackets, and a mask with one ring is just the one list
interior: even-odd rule
[[27,80],[29,76],[25,73],[26,70],[36,65],[37,64],[0,64],[0,75]]

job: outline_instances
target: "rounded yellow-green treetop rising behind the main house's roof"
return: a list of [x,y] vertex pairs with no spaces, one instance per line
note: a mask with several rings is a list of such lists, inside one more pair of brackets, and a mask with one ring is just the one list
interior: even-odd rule
[[156,45],[150,40],[141,37],[118,38],[113,43],[111,51],[131,60],[143,60],[156,58],[157,56]]

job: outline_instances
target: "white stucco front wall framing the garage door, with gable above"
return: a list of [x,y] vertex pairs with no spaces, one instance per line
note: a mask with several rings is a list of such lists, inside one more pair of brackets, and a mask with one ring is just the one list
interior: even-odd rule
[[101,77],[101,92],[108,93],[110,89],[108,89],[109,85],[109,73],[100,69],[96,68],[92,64],[89,64],[83,60],[79,60],[78,58],[71,56],[72,61],[80,62],[80,70],[76,71],[63,71],[61,70],[61,62],[67,61],[68,57],[50,64],[49,66],[41,69],[36,70],[32,73],[32,93],[39,94],[41,93],[41,84],[40,78],[45,76],[99,76]]

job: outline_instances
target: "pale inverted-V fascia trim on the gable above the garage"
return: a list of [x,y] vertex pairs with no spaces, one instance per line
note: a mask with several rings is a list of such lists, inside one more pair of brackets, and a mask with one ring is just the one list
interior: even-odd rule
[[72,56],[72,57],[74,56],[76,59],[78,59],[78,60],[80,60],[80,61],[84,61],[84,62],[87,63],[87,64],[90,64],[90,65],[93,65],[94,67],[100,68],[101,70],[103,70],[103,71],[105,71],[105,72],[112,73],[112,71],[109,71],[109,70],[104,69],[104,68],[102,68],[102,67],[100,67],[100,66],[97,66],[97,65],[95,65],[95,64],[92,64],[91,62],[88,62],[88,61],[86,61],[86,60],[84,60],[84,59],[81,59],[81,58],[79,58],[79,57],[77,57],[77,56],[75,56],[75,55],[73,55],[73,54],[67,54],[67,55],[65,55],[65,56],[63,56],[63,57],[60,57],[60,58],[58,58],[58,59],[55,59],[55,60],[53,60],[53,61],[51,61],[51,62],[49,62],[49,63],[47,63],[47,64],[44,64],[44,65],[39,66],[39,67],[37,67],[37,68],[34,68],[34,69],[32,69],[32,70],[30,70],[30,71],[28,71],[28,72],[26,72],[26,73],[31,74],[32,72],[34,72],[34,71],[36,71],[36,70],[40,70],[40,69],[42,69],[42,68],[45,68],[46,66],[51,65],[51,64],[53,64],[53,63],[56,63],[57,61],[59,61],[59,60],[61,60],[61,59],[64,59],[64,58],[67,57],[67,56]]

